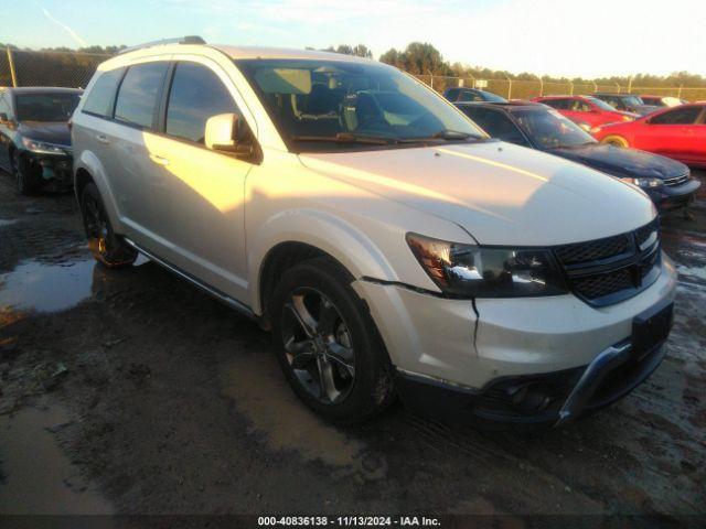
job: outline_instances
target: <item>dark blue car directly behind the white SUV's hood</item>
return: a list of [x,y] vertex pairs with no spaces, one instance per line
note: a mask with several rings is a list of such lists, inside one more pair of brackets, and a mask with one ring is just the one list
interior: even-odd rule
[[601,144],[556,110],[533,102],[456,104],[493,138],[582,163],[641,187],[660,209],[688,205],[700,182],[668,158]]

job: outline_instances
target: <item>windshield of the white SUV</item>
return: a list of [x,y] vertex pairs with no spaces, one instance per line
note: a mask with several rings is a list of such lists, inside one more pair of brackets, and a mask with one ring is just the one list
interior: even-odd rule
[[[441,96],[381,64],[325,60],[235,62],[296,150],[354,139],[467,141],[485,138]],[[313,141],[317,143],[314,144]],[[359,148],[361,145],[357,145]]]

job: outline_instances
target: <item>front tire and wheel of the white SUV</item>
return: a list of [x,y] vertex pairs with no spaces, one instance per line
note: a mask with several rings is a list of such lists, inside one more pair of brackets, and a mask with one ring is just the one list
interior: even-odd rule
[[280,366],[324,419],[364,421],[394,398],[392,365],[352,277],[327,258],[289,269],[269,303]]

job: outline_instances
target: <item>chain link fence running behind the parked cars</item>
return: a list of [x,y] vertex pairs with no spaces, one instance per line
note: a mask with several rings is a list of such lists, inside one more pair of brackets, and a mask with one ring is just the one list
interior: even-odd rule
[[[29,52],[0,48],[0,86],[65,86],[84,88],[96,67],[110,55],[76,52]],[[417,75],[422,83],[437,91],[457,86],[474,87],[473,77]],[[598,85],[596,83],[549,83],[543,80],[483,79],[484,90],[507,99],[530,99],[537,96],[586,95],[595,91],[620,94],[650,94],[674,96],[691,101],[706,100],[706,87],[650,87]]]

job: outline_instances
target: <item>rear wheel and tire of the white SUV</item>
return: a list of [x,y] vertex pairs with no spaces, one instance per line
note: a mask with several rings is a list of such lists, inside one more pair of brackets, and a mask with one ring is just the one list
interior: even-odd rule
[[137,250],[113,230],[96,184],[88,183],[81,195],[81,213],[88,248],[94,259],[108,268],[129,267]]

